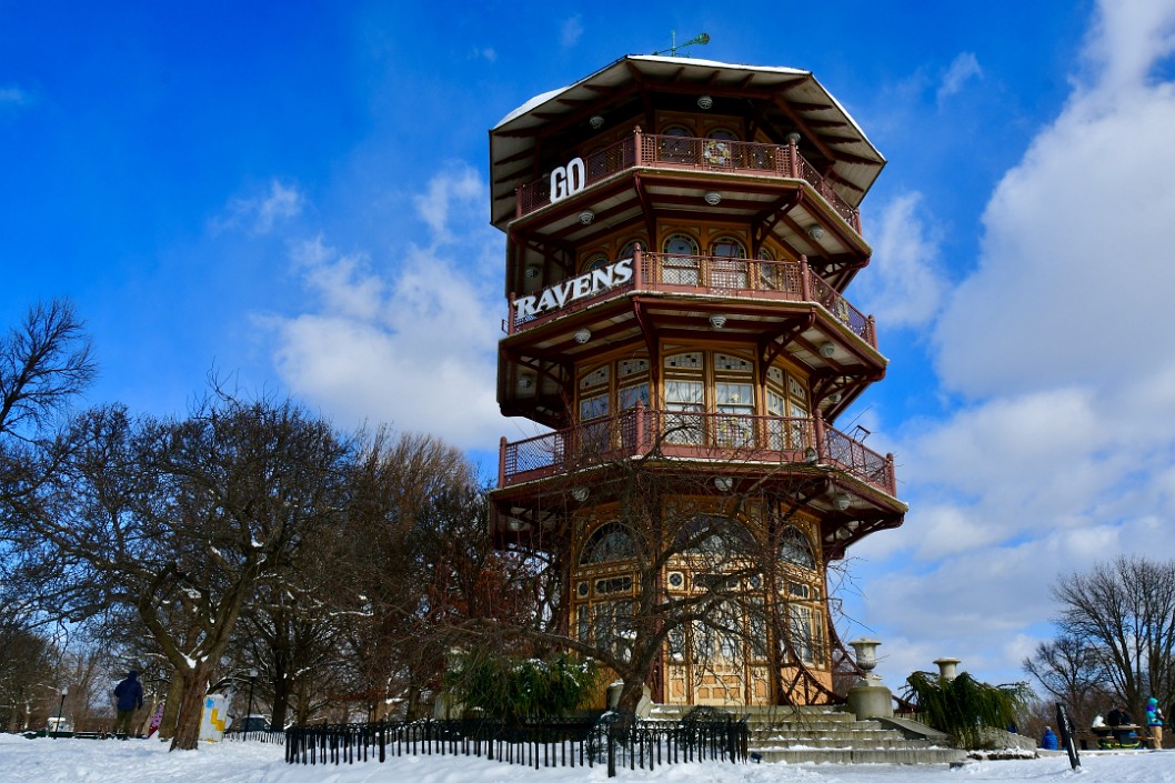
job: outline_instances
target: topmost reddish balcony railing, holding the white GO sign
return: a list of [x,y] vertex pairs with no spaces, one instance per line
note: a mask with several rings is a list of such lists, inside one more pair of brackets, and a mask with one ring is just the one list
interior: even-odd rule
[[[828,181],[817,173],[794,143],[764,145],[754,141],[698,139],[693,136],[664,136],[636,133],[610,147],[584,155],[583,182],[588,188],[629,168],[666,168],[706,172],[731,172],[788,180],[803,180],[820,194],[846,223],[861,233],[860,212],[837,193]],[[529,215],[551,203],[551,175],[517,189],[516,216]]]

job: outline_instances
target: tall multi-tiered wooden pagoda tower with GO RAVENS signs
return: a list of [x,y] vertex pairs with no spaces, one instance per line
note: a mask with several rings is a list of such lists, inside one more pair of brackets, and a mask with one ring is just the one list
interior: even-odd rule
[[647,662],[653,702],[842,696],[830,563],[906,511],[892,455],[835,427],[885,374],[847,295],[884,165],[810,72],[680,58],[490,132],[497,395],[536,424],[502,441],[492,533],[548,563],[572,649]]

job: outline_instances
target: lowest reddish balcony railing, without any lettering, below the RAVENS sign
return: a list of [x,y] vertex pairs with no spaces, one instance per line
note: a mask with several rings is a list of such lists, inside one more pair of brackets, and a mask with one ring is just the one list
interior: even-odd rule
[[513,443],[502,439],[498,486],[649,454],[712,462],[818,464],[839,468],[895,496],[893,455],[880,455],[815,417],[652,410],[637,406]]

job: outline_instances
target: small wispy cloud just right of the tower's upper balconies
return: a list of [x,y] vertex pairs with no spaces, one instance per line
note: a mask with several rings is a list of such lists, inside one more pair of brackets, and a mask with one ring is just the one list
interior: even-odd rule
[[886,205],[870,268],[853,285],[853,295],[887,328],[924,326],[942,303],[939,241],[926,221],[919,193]]

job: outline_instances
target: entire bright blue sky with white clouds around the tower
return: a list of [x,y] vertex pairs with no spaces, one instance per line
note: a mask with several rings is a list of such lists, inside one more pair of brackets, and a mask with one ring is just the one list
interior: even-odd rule
[[216,372],[489,474],[532,429],[494,401],[488,130],[671,31],[812,71],[889,161],[848,296],[892,363],[840,423],[912,510],[854,548],[842,630],[893,685],[1020,677],[1059,574],[1175,556],[1173,0],[0,0],[0,323],[72,297],[90,403]]

